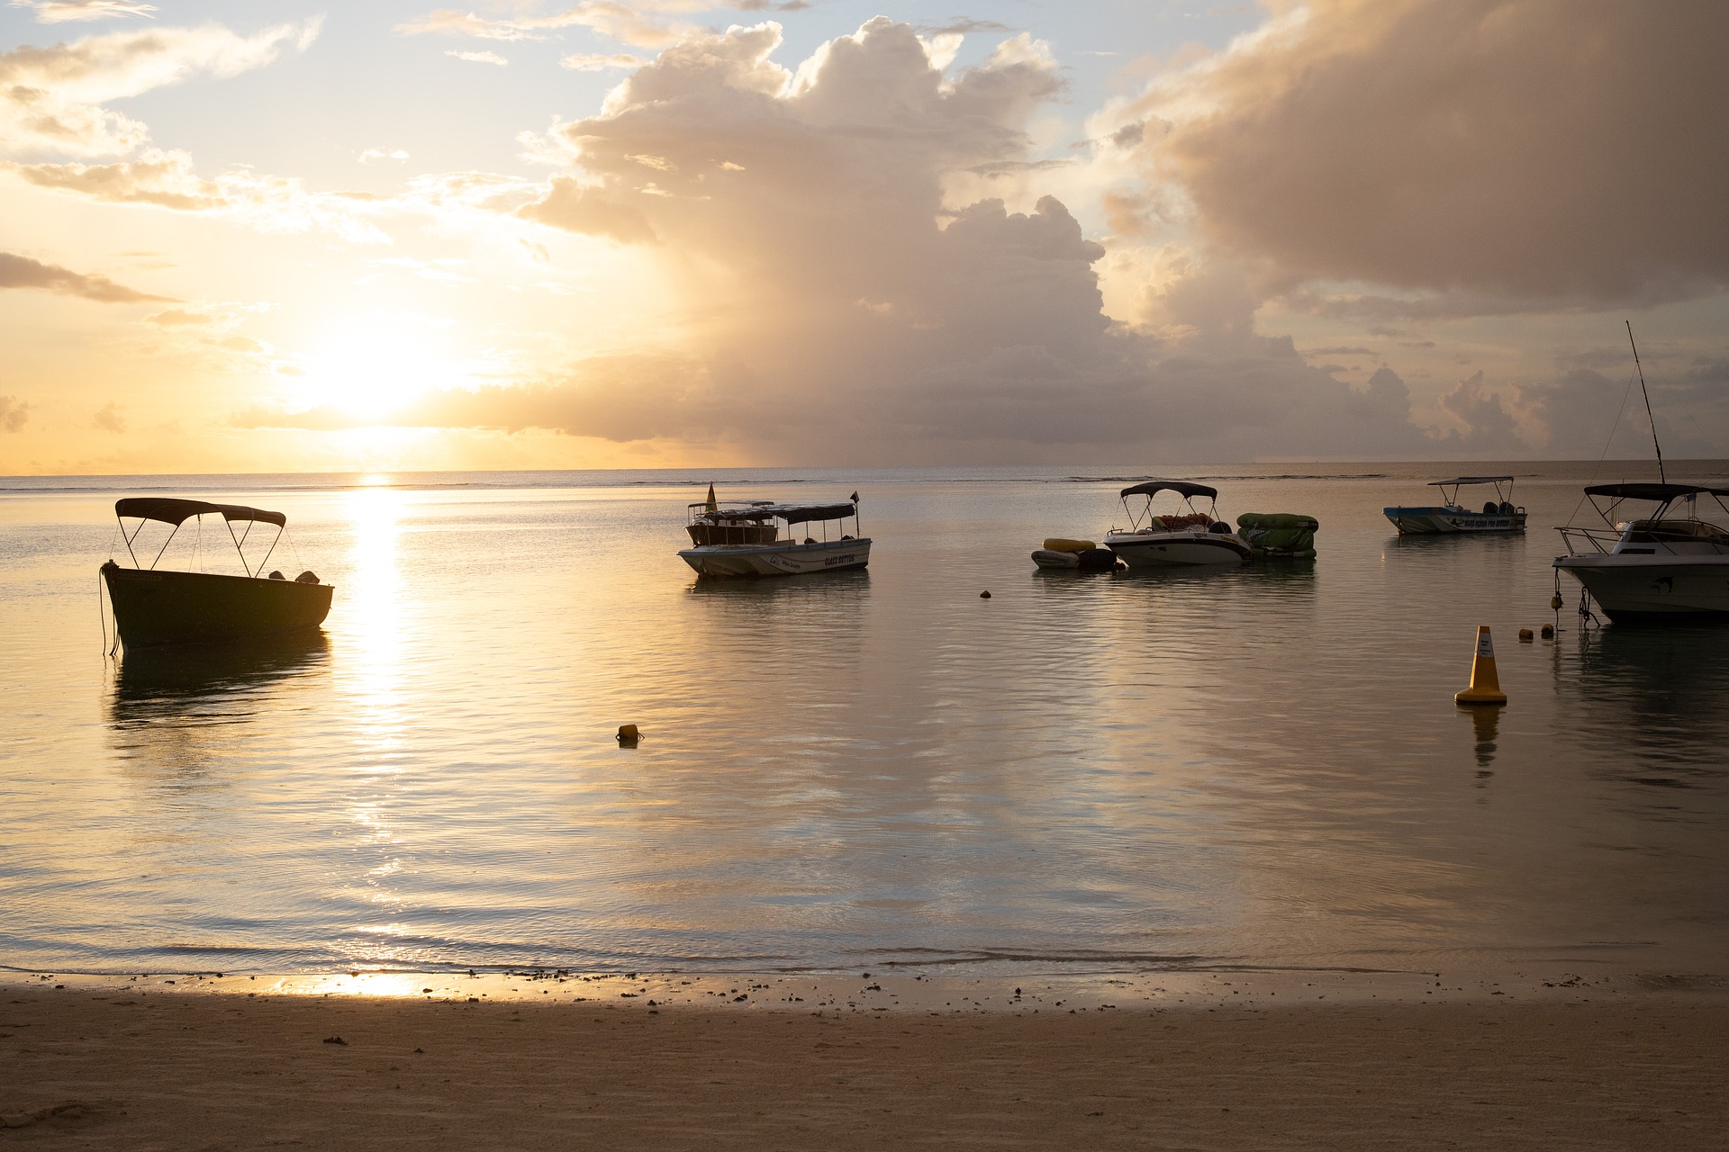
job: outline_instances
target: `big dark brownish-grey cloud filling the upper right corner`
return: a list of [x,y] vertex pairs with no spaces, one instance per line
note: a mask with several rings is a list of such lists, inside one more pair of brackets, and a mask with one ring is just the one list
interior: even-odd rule
[[[1324,314],[1487,314],[1729,285],[1729,5],[1312,0],[1117,121],[1222,250]],[[1406,299],[1414,295],[1418,299]],[[1421,297],[1439,297],[1425,302]]]

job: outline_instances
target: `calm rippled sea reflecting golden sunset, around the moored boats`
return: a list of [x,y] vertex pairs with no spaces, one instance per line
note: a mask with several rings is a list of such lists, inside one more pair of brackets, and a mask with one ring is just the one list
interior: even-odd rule
[[[1188,470],[1321,558],[1176,577],[1029,561],[1120,480],[718,473],[858,487],[877,546],[714,585],[709,475],[7,480],[0,964],[1720,971],[1729,629],[1516,642],[1591,468],[1511,468],[1528,535],[1397,539],[1447,468]],[[287,511],[323,634],[105,660],[147,485]],[[1477,623],[1504,713],[1452,705]]]

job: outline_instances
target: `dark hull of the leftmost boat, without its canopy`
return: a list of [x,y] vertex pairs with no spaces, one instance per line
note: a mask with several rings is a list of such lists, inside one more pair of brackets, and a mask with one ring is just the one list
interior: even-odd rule
[[150,572],[102,565],[114,625],[126,648],[202,644],[316,629],[330,615],[329,584],[213,572]]

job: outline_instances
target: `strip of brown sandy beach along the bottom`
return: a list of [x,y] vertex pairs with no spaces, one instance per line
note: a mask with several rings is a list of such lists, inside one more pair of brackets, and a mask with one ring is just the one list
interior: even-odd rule
[[1214,1003],[816,1014],[12,984],[0,1147],[1729,1142],[1722,995]]

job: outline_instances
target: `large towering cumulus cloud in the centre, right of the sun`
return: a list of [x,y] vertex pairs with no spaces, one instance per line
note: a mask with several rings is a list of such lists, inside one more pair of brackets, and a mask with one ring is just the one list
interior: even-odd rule
[[[1029,124],[1062,81],[1029,36],[946,74],[887,19],[775,62],[775,24],[667,47],[552,142],[579,173],[517,216],[638,245],[685,340],[522,385],[429,397],[398,423],[724,442],[845,461],[1423,453],[1404,382],[1368,387],[1254,333],[1243,278],[1172,259],[1145,330],[1103,313],[1058,199],[951,204],[975,171],[1036,181]],[[552,154],[553,149],[548,149]],[[251,421],[346,427],[335,411]]]

